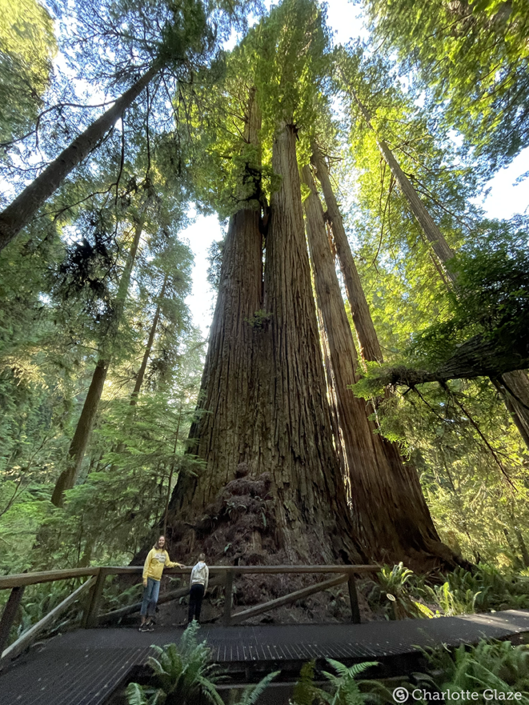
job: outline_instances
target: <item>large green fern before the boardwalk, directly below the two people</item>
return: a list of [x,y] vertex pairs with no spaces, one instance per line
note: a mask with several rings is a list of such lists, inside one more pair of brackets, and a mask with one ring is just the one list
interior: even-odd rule
[[152,680],[157,689],[151,693],[152,689],[130,683],[127,687],[130,705],[143,702],[148,705],[191,705],[203,701],[222,705],[223,701],[214,686],[216,669],[209,663],[209,649],[206,642],[198,643],[199,628],[200,625],[193,622],[183,632],[178,646],[152,646],[157,656],[150,656],[147,664],[152,668]]

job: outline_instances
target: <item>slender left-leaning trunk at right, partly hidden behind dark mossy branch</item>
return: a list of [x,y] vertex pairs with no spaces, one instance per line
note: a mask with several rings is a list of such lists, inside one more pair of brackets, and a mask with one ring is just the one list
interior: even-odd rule
[[[456,274],[450,268],[450,259],[454,257],[454,251],[451,250],[444,235],[434,223],[430,213],[427,211],[425,205],[420,200],[417,192],[411,185],[406,174],[402,171],[399,166],[399,162],[395,159],[393,152],[389,149],[388,145],[384,140],[379,139],[375,128],[373,128],[371,123],[371,116],[360,99],[355,93],[353,88],[350,88],[351,95],[358,104],[360,111],[365,118],[365,121],[369,128],[375,133],[377,140],[377,145],[387,162],[391,172],[393,173],[396,182],[399,184],[401,191],[408,201],[408,205],[411,212],[417,219],[422,233],[424,233],[425,238],[428,240],[435,255],[439,258],[439,262],[442,263],[446,271],[446,275],[449,277],[452,283],[456,284]],[[525,446],[529,448],[529,379],[527,374],[523,370],[516,370],[515,372],[506,372],[499,379],[500,384],[503,386],[505,393],[504,403],[509,411],[513,422],[516,424],[516,428],[520,431],[521,437]],[[497,386],[497,383],[493,381],[493,384]],[[500,388],[501,391],[501,388]]]

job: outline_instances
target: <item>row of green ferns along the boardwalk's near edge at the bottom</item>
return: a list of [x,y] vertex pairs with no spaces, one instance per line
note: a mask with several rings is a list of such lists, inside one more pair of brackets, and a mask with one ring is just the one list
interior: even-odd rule
[[[149,658],[152,669],[149,685],[130,683],[126,690],[129,705],[199,705],[224,703],[217,689],[223,675],[209,661],[210,651],[200,642],[198,625],[193,623],[178,645],[154,646]],[[424,652],[424,673],[402,678],[365,678],[376,661],[346,666],[327,658],[327,666],[317,669],[315,661],[305,663],[293,685],[288,705],[384,705],[430,701],[458,704],[462,700],[486,705],[492,700],[516,701],[529,705],[529,646],[511,642],[480,641],[476,646],[461,644],[456,649],[441,645]],[[367,673],[366,673],[367,672]],[[242,694],[233,695],[229,705],[258,705],[261,694],[279,676],[274,671]],[[462,695],[464,694],[464,696]],[[515,697],[516,696],[516,697]],[[281,704],[283,704],[281,700]],[[278,702],[279,705],[279,702]]]

